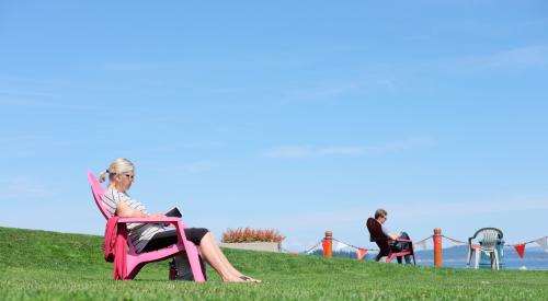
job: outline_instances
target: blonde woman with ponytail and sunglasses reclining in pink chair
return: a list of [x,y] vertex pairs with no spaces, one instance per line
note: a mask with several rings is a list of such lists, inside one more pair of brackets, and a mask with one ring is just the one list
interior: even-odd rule
[[[123,218],[165,217],[164,213],[149,215],[145,206],[127,195],[135,177],[134,164],[127,159],[116,159],[109,169],[99,176],[104,182],[109,174],[109,186],[103,197],[103,202],[111,213]],[[127,225],[129,239],[136,252],[160,250],[178,242],[178,232],[167,229],[160,223],[130,223]],[[186,240],[199,246],[202,256],[219,274],[222,281],[230,282],[261,282],[261,280],[242,275],[227,259],[219,246],[215,243],[213,234],[205,228],[184,229]],[[184,256],[175,256],[178,271],[184,266]],[[182,279],[178,275],[178,279]]]

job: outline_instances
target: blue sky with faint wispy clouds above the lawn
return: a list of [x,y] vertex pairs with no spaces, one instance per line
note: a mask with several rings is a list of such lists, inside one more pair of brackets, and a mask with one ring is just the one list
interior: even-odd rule
[[85,173],[189,225],[548,234],[547,1],[1,1],[0,225],[102,234]]

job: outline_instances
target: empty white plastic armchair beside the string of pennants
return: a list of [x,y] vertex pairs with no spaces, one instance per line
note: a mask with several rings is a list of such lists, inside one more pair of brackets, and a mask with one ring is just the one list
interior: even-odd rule
[[[491,258],[491,268],[500,269],[499,253],[496,244],[502,240],[502,231],[496,228],[482,228],[478,230],[473,236],[468,239],[468,266],[472,259],[472,254],[476,255],[475,268],[479,268],[480,253],[483,252]],[[475,241],[478,240],[478,241]],[[502,255],[502,254],[501,254]]]

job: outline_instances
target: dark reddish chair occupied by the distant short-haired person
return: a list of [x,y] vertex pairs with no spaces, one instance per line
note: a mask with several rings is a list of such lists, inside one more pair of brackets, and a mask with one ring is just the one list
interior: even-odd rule
[[406,247],[404,250],[401,250],[397,245],[390,244],[392,240],[390,240],[390,238],[383,233],[380,223],[374,218],[367,219],[367,230],[369,230],[370,241],[375,242],[379,247],[379,252],[375,261],[378,262],[381,257],[386,256],[386,262],[390,263],[392,262],[393,257],[397,257],[398,263],[401,264],[401,258],[403,256],[411,255],[413,257],[413,264],[416,265],[413,251],[413,242],[411,240],[396,240],[396,242],[403,242],[408,244],[408,247]]

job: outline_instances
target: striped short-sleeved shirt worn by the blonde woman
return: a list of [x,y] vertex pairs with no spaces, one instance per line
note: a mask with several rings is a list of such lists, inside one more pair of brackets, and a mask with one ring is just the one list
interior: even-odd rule
[[[109,188],[103,195],[103,204],[109,212],[115,215],[119,201],[125,201],[129,208],[147,213],[147,208],[136,199],[133,199],[125,193]],[[158,232],[165,231],[160,223],[128,223],[127,232],[136,252],[140,252],[150,239]]]

